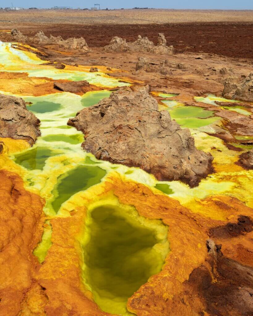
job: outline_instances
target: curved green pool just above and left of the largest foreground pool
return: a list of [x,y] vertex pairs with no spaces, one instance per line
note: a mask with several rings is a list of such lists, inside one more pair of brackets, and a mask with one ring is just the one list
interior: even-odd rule
[[61,205],[72,195],[99,183],[105,175],[106,171],[99,167],[82,165],[61,175],[53,190],[52,208],[57,213]]

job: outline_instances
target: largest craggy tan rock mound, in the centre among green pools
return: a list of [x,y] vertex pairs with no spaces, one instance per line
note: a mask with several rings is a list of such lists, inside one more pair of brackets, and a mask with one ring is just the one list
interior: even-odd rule
[[97,159],[140,167],[159,180],[195,186],[212,172],[212,155],[197,150],[189,129],[181,129],[168,111],[158,111],[148,87],[114,92],[68,125],[83,131],[82,147]]

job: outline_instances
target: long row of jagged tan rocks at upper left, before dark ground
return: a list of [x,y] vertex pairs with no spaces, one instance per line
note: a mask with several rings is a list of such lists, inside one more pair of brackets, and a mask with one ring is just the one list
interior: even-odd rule
[[18,42],[21,43],[34,43],[40,45],[58,45],[63,47],[66,50],[78,50],[78,51],[89,51],[89,47],[84,40],[83,37],[78,39],[76,38],[69,38],[64,40],[61,36],[52,36],[47,37],[42,31],[39,31],[34,36],[28,37],[23,35],[19,30],[12,29],[11,36]]

